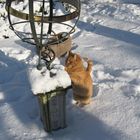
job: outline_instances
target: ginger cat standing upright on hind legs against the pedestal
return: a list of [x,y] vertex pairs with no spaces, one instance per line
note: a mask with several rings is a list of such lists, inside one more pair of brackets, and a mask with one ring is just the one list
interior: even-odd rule
[[92,61],[87,61],[87,68],[84,67],[81,57],[78,54],[69,52],[65,62],[65,70],[68,72],[73,88],[73,97],[76,104],[83,106],[91,102],[93,92]]

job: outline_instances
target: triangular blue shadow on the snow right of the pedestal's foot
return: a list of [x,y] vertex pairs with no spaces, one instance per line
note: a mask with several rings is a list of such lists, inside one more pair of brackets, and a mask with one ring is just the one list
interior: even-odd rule
[[[86,111],[91,107],[83,108],[71,103],[72,91],[68,92],[67,98],[67,128],[53,132],[49,138],[53,140],[121,140],[129,138],[123,132],[105,124],[102,120]],[[44,137],[45,140],[48,137]]]

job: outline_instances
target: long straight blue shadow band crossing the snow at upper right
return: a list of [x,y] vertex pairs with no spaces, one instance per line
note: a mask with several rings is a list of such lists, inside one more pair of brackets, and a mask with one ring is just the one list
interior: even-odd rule
[[[98,35],[140,46],[140,34],[132,33],[121,29],[115,29],[100,24],[91,24],[83,21],[79,21],[77,27],[81,29],[80,32],[86,30],[88,32],[92,32]],[[78,32],[77,34],[79,35],[80,33]]]

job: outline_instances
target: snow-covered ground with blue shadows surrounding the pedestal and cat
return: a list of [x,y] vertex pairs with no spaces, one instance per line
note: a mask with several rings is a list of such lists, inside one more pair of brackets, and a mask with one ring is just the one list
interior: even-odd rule
[[140,140],[140,2],[81,1],[73,52],[94,62],[94,95],[80,108],[69,90],[67,128],[52,134],[43,129],[27,76],[35,48],[0,18],[0,140]]

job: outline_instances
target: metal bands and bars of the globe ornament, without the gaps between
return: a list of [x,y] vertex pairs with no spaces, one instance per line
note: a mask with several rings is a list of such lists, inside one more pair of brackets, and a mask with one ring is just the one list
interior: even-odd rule
[[[54,60],[55,58],[55,52],[49,48],[49,43],[51,41],[49,41],[52,37],[56,36],[55,31],[52,29],[52,24],[54,23],[58,23],[58,24],[63,24],[65,26],[68,26],[71,28],[71,30],[69,32],[64,32],[61,40],[59,38],[59,40],[57,40],[56,42],[61,42],[62,40],[64,40],[65,38],[68,38],[68,36],[73,33],[75,30],[75,26],[79,20],[79,16],[80,16],[80,9],[81,9],[81,5],[80,5],[80,0],[57,0],[57,2],[61,2],[64,5],[67,5],[68,7],[73,8],[72,12],[68,12],[67,14],[61,15],[61,16],[54,16],[53,15],[53,1],[54,0],[29,0],[28,4],[29,4],[29,12],[28,13],[23,13],[19,10],[16,10],[15,8],[12,7],[12,3],[15,2],[16,0],[6,0],[6,10],[8,12],[8,19],[9,19],[9,23],[10,23],[10,29],[12,29],[15,34],[23,41],[31,43],[36,45],[37,48],[37,53],[39,55],[39,64],[38,64],[38,69],[41,69],[41,50],[44,47],[44,45],[46,46],[47,49],[47,54],[46,54],[46,58],[43,58],[46,60],[46,65],[47,67],[49,67],[50,63]],[[42,14],[41,15],[35,15],[34,13],[34,3],[35,2],[41,2],[42,3]],[[44,15],[44,5],[45,3],[48,2],[49,3],[49,8],[50,8],[50,13],[49,16]],[[11,15],[22,19],[24,21],[19,21],[16,23],[12,23],[11,21]],[[71,21],[73,19],[75,20],[75,24],[73,26],[65,23],[66,21]],[[19,32],[14,28],[15,25],[17,24],[22,24],[22,23],[26,23],[29,22],[30,23],[30,27],[31,27],[31,37],[22,37]],[[35,27],[35,23],[41,23],[41,29],[40,29],[40,34],[38,35],[36,32],[36,27]],[[48,30],[47,33],[44,35],[43,33],[43,25],[44,24],[48,24]],[[26,33],[24,33],[26,34]],[[43,43],[43,39],[47,40],[47,43]],[[32,41],[31,41],[32,40]],[[33,41],[34,40],[34,41]],[[54,42],[54,43],[56,43]]]

